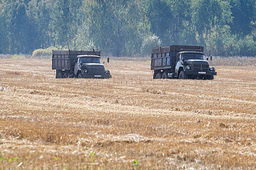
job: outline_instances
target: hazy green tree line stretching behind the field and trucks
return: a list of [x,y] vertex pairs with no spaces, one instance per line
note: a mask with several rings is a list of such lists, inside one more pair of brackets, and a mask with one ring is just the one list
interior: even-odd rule
[[0,53],[52,46],[145,56],[177,44],[255,56],[256,0],[0,0]]

